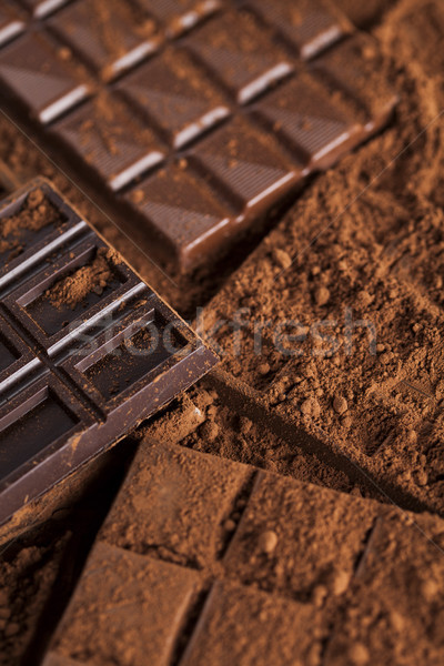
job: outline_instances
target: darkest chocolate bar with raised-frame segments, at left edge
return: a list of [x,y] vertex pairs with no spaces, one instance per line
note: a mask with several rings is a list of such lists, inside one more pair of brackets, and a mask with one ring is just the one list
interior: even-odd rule
[[215,363],[43,180],[0,210],[0,522]]

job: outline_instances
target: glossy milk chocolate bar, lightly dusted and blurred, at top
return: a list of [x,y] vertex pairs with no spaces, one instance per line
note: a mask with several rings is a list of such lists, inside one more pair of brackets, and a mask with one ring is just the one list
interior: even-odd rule
[[396,102],[330,0],[23,4],[0,42],[8,109],[173,272],[260,234]]

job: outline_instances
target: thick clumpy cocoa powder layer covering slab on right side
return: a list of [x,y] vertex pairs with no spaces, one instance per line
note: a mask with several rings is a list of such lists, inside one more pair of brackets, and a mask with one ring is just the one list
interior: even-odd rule
[[401,98],[392,127],[302,195],[214,297],[206,329],[276,412],[443,512],[444,95],[411,46],[442,10],[424,3],[416,22],[413,6],[376,30]]

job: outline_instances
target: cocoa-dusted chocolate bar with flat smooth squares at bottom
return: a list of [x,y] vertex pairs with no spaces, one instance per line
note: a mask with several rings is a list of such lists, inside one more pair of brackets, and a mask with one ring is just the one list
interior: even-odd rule
[[148,437],[43,664],[333,666],[361,643],[440,663],[442,534],[436,516]]

